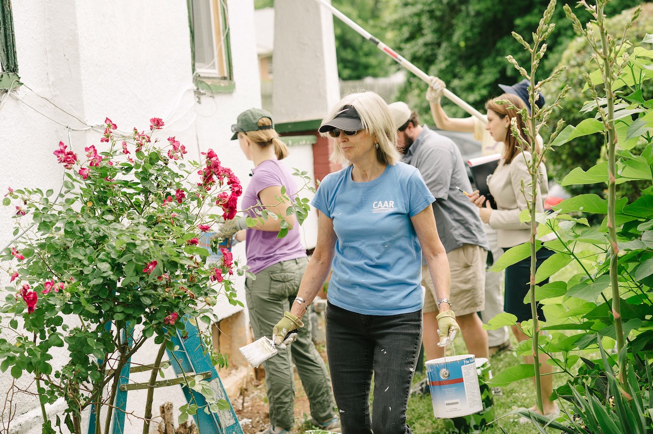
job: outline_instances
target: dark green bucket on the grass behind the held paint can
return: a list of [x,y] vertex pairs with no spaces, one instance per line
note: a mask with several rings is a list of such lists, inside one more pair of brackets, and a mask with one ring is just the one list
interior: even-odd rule
[[481,389],[481,401],[483,410],[468,416],[458,416],[451,419],[444,419],[445,429],[449,432],[477,433],[494,421],[494,399],[492,388],[486,381],[492,378],[490,362],[484,357],[476,359],[476,373],[479,377]]

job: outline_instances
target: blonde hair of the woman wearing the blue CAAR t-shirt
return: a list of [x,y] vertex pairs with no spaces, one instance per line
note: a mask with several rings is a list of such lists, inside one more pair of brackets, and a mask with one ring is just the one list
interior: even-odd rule
[[[388,104],[381,96],[374,92],[348,94],[330,109],[325,119],[329,121],[334,119],[344,106],[352,106],[356,109],[363,129],[379,144],[376,158],[381,164],[394,166],[401,160],[401,155],[397,151],[397,128],[392,115],[390,115]],[[321,135],[330,137],[328,132],[321,133]],[[329,160],[351,165],[338,146],[334,146]]]

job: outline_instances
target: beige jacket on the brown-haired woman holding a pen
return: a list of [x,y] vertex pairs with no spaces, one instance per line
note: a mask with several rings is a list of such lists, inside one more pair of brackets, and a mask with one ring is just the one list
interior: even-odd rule
[[[528,209],[526,204],[530,201],[532,191],[531,176],[528,174],[524,156],[530,164],[532,160],[530,152],[524,152],[524,155],[517,154],[510,164],[505,164],[502,158],[494,173],[488,176],[488,188],[497,206],[497,209],[490,214],[490,226],[497,229],[499,247],[509,248],[530,240],[530,224],[519,222],[520,212]],[[537,212],[544,212],[544,201],[549,194],[547,168],[544,164],[539,166],[539,171],[538,200],[535,209]],[[550,235],[552,234],[540,239],[549,240]]]

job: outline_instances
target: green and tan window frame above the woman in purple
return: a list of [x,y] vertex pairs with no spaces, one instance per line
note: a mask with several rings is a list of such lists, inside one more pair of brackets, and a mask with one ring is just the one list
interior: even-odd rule
[[[0,0],[4,1],[4,0]],[[231,31],[229,28],[229,12],[227,10],[226,0],[206,0],[210,2],[211,7],[211,24],[212,39],[214,41],[214,50],[218,50],[216,38],[221,36],[221,55],[217,53],[216,57],[223,57],[225,76],[215,76],[210,70],[198,70],[195,65],[195,23],[193,21],[193,0],[187,0],[188,5],[188,24],[191,33],[191,67],[193,70],[193,82],[199,93],[209,91],[210,93],[231,93],[236,89],[236,83],[233,80],[232,59],[231,59]],[[217,13],[215,8],[218,8]],[[215,23],[218,19],[219,23]],[[218,28],[219,25],[219,28]],[[219,31],[219,33],[218,33]],[[216,67],[216,70],[219,68]],[[219,74],[219,72],[218,72]]]

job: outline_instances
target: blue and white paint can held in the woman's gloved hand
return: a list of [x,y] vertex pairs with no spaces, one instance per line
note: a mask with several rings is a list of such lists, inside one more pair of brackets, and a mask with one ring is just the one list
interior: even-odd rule
[[426,377],[436,418],[467,416],[483,410],[473,354],[428,360]]

